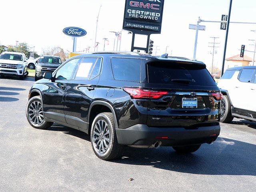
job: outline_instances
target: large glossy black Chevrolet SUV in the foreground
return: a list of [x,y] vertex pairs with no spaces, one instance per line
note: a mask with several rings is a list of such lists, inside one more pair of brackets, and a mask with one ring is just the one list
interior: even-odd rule
[[123,145],[195,152],[220,134],[222,94],[199,61],[137,53],[72,57],[29,93],[30,125],[58,123],[90,135],[95,154],[114,159]]

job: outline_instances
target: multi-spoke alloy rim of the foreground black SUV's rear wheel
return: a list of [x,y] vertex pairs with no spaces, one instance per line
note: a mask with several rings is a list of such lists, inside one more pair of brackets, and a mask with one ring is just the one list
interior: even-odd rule
[[106,121],[100,119],[97,121],[97,123],[94,125],[93,128],[93,135],[92,135],[92,142],[94,149],[99,154],[104,154],[110,145],[110,132],[108,128],[108,124]]

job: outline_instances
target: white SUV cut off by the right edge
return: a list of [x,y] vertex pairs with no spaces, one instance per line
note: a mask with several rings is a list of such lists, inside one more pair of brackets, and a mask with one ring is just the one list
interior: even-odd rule
[[224,95],[221,122],[230,123],[234,117],[256,121],[256,66],[227,69],[218,87]]

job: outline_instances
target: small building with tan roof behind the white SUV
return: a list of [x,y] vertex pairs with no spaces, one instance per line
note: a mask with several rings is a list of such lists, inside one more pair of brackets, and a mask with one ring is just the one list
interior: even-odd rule
[[240,55],[235,55],[233,57],[229,57],[226,59],[227,63],[225,68],[231,67],[240,67],[240,66],[249,66],[250,62],[252,62],[252,58],[248,55],[244,55],[244,57],[240,57]]

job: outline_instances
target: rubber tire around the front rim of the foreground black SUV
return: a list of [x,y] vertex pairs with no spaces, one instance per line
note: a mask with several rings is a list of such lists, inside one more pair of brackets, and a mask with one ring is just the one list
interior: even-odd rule
[[[34,127],[34,128],[36,128],[36,129],[48,129],[49,127],[51,127],[52,126],[52,122],[47,122],[47,121],[45,121],[45,120],[43,120],[42,121],[42,123],[40,123],[40,125],[39,125],[39,123],[38,123],[38,125],[36,125],[36,124],[34,124],[33,122],[32,122],[32,120],[30,119],[30,117],[29,117],[29,107],[30,107],[30,105],[31,105],[31,103],[33,103],[33,102],[39,102],[39,103],[41,103],[41,105],[42,105],[42,99],[41,99],[41,97],[40,96],[35,96],[35,97],[32,97],[29,101],[28,101],[28,103],[27,103],[27,106],[26,106],[26,117],[27,117],[27,120],[28,120],[28,123],[32,126],[32,127]],[[42,113],[42,115],[43,115],[43,113]],[[36,117],[35,117],[36,118]],[[32,118],[33,119],[33,118]]]

